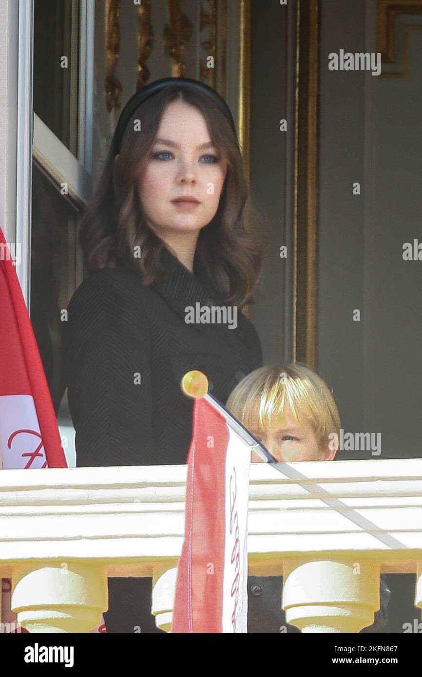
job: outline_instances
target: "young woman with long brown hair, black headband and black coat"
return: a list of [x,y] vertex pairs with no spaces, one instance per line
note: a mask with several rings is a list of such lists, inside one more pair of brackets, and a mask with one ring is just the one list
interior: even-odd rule
[[[81,224],[90,274],[64,327],[78,466],[186,463],[193,402],[184,374],[207,374],[226,403],[261,366],[241,313],[263,260],[247,204],[232,114],[213,89],[169,78],[129,100]],[[108,584],[108,632],[161,632],[151,579]]]

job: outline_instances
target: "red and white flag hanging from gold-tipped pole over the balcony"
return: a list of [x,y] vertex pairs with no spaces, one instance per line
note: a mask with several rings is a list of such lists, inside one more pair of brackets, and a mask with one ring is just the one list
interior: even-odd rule
[[247,632],[251,447],[229,422],[195,399],[172,633]]

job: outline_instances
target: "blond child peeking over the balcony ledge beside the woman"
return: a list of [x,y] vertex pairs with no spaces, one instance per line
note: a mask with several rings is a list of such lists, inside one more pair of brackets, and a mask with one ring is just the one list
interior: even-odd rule
[[[333,460],[340,416],[329,387],[305,364],[272,364],[251,372],[230,393],[226,408],[280,462]],[[335,433],[335,435],[333,435]],[[252,462],[261,458],[252,452]],[[281,609],[282,577],[248,577],[248,632],[300,632],[286,623]],[[391,590],[381,575],[381,608],[372,626],[387,623]]]

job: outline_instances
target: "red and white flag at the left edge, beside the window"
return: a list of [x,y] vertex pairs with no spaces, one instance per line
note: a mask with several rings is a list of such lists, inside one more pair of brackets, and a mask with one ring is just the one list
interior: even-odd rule
[[[33,326],[1,228],[0,253],[0,467],[66,468]],[[1,583],[9,605],[12,581]]]

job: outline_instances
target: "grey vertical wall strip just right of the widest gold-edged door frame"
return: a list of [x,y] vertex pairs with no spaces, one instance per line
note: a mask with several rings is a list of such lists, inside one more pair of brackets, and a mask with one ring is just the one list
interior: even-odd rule
[[[364,73],[329,70],[329,53],[365,51],[364,0],[320,3],[318,373],[345,431],[362,430]],[[360,195],[353,194],[359,182]],[[358,458],[341,454],[339,458]]]

